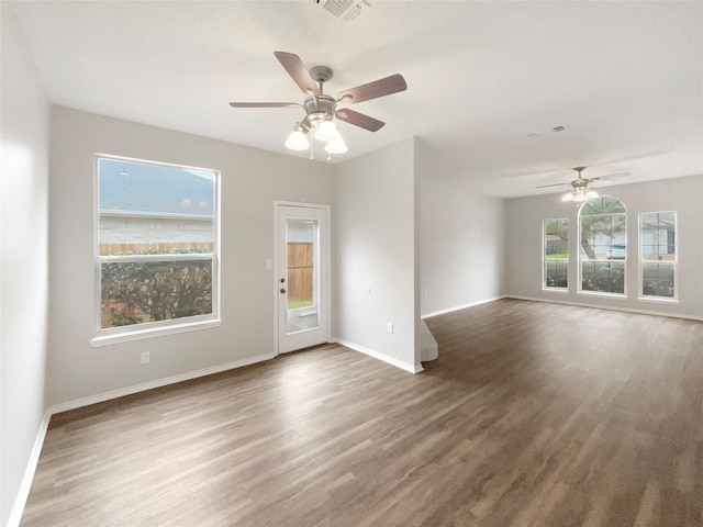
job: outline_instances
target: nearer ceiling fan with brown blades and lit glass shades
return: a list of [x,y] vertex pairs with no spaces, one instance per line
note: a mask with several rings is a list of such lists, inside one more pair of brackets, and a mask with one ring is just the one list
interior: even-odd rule
[[[286,146],[292,150],[304,150],[311,147],[305,137],[309,132],[317,141],[325,143],[327,154],[344,154],[348,150],[335,120],[354,124],[370,132],[379,131],[386,123],[354,110],[349,104],[390,96],[408,89],[405,79],[400,74],[391,75],[366,85],[341,91],[334,98],[324,93],[323,85],[332,79],[332,68],[313,66],[310,70],[298,55],[286,52],[274,52],[278,61],[292,77],[298,87],[308,96],[302,102],[231,102],[234,108],[302,108],[305,116],[295,123],[293,132],[286,141]],[[312,148],[311,148],[312,158]]]

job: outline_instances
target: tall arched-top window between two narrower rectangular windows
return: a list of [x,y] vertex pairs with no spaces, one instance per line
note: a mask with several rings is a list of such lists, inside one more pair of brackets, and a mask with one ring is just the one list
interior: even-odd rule
[[616,198],[587,201],[579,211],[579,292],[625,294],[627,211]]

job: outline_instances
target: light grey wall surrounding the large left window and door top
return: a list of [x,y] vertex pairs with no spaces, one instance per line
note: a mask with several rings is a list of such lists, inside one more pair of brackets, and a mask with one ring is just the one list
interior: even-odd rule
[[[51,405],[272,355],[274,201],[332,203],[332,165],[65,108],[51,138]],[[221,170],[220,327],[91,347],[96,153]]]

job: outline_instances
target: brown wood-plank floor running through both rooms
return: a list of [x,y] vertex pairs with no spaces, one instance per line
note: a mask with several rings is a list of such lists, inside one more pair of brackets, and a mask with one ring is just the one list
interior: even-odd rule
[[52,418],[23,527],[701,526],[703,323],[502,300]]

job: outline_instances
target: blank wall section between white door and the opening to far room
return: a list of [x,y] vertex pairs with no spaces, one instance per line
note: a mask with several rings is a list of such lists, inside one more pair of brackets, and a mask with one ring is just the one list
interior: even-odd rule
[[421,368],[414,164],[411,138],[336,166],[333,213],[333,334],[410,371]]

